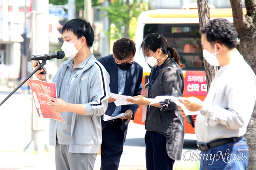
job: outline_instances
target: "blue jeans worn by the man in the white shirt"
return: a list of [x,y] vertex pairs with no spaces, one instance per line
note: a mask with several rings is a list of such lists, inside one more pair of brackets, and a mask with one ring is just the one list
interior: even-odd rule
[[246,170],[249,152],[245,138],[201,152],[200,170]]

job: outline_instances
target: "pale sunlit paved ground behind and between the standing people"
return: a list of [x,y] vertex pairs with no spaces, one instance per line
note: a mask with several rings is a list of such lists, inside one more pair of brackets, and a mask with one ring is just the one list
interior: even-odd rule
[[[0,102],[11,91],[0,87]],[[37,115],[32,117],[31,94],[23,94],[19,89],[7,99],[0,106],[0,170],[55,170],[54,147],[47,144],[48,122],[38,119]],[[131,122],[119,170],[146,169],[144,135],[144,125]],[[44,147],[49,152],[45,152]],[[183,153],[195,149],[194,142],[187,142]],[[35,153],[36,150],[38,153]],[[180,163],[177,161],[175,164],[179,166]],[[98,155],[94,170],[99,168]]]

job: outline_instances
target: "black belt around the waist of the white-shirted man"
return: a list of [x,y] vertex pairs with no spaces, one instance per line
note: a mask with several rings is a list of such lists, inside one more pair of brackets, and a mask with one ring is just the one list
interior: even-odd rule
[[230,143],[230,142],[237,142],[237,141],[241,140],[243,137],[244,136],[219,139],[218,141],[209,142],[209,143],[197,142],[197,146],[198,146],[199,150],[206,151],[206,150],[210,150],[213,147],[220,146],[222,144],[226,144],[226,143]]

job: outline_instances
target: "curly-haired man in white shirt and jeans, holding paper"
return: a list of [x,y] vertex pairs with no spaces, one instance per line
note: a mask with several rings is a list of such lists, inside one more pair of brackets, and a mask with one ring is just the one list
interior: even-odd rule
[[221,66],[204,102],[195,97],[179,100],[189,111],[200,111],[195,122],[200,170],[244,170],[249,153],[243,135],[256,101],[256,76],[236,49],[233,23],[211,20],[200,33],[204,58]]

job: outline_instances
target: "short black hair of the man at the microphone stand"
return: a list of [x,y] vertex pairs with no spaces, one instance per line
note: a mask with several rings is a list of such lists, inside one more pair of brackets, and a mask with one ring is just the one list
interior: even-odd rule
[[93,46],[94,41],[94,31],[90,23],[84,18],[75,18],[67,21],[62,28],[62,33],[64,31],[73,31],[73,33],[78,37],[85,37],[88,47]]

